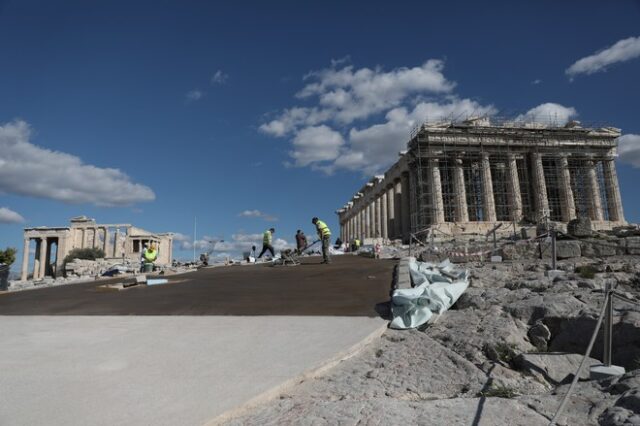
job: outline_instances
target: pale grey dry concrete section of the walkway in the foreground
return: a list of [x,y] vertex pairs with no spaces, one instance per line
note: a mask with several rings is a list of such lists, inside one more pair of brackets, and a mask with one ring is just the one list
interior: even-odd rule
[[382,332],[375,317],[4,316],[2,425],[201,425]]

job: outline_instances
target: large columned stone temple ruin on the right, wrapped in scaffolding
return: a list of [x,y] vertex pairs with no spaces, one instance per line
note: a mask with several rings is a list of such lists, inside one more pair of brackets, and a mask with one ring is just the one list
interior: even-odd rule
[[620,130],[471,119],[424,124],[384,175],[336,213],[341,238],[408,242],[411,233],[482,234],[498,223],[588,217],[624,225],[615,157]]

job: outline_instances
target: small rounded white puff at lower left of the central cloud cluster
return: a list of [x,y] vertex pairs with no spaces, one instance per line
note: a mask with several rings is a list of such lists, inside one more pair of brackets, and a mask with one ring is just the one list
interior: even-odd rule
[[289,153],[296,166],[304,167],[319,161],[335,160],[344,145],[342,135],[326,125],[307,127],[293,138]]

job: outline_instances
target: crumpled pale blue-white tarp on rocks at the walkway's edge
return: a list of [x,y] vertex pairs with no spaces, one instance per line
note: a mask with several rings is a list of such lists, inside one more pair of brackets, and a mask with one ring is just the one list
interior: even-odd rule
[[412,260],[409,274],[414,287],[395,290],[391,296],[391,328],[425,324],[433,314],[453,306],[469,287],[469,271],[455,267],[448,259],[438,265]]

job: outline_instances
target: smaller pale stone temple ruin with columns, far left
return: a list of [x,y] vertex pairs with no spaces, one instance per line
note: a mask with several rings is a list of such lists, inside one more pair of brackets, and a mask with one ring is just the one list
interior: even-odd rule
[[35,240],[32,279],[60,276],[64,258],[73,249],[100,248],[106,258],[140,259],[144,246],[155,243],[158,264],[170,264],[173,234],[154,234],[129,224],[97,224],[86,216],[74,217],[69,227],[25,228],[22,280],[29,277],[29,246]]

